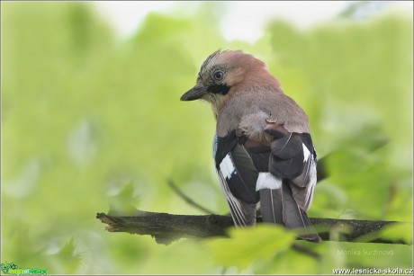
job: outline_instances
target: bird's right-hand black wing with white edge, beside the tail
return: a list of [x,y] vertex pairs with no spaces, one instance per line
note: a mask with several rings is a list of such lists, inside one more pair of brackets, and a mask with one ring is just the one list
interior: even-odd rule
[[290,180],[293,198],[303,211],[311,206],[316,184],[316,151],[309,133],[289,132],[283,126],[267,122],[270,143],[269,172]]

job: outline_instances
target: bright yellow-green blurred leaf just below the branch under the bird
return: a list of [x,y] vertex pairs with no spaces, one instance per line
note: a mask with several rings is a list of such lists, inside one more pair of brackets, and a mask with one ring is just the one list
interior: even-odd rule
[[231,228],[229,238],[210,240],[212,259],[223,266],[246,269],[256,260],[270,260],[276,253],[288,249],[295,239],[284,227],[257,225],[257,227]]

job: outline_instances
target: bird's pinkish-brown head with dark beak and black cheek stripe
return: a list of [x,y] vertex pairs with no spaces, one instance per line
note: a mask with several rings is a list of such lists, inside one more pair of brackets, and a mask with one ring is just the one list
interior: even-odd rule
[[278,84],[263,61],[241,51],[218,50],[202,63],[196,85],[181,96],[181,101],[201,99],[218,110],[233,94],[266,83]]

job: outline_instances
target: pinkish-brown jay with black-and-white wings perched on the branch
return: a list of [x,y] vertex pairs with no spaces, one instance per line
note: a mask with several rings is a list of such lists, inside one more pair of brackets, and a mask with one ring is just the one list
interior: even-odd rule
[[317,182],[309,119],[266,63],[219,49],[180,100],[211,103],[213,158],[235,226],[255,226],[260,212],[264,223],[300,229],[298,238],[319,243],[307,216]]

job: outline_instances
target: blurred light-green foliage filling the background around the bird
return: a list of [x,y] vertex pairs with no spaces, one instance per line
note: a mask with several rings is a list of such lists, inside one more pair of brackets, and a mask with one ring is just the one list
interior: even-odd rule
[[[332,153],[310,216],[411,222],[410,18],[341,17],[311,31],[273,22],[247,44],[224,40],[223,5],[204,3],[193,13],[150,13],[135,36],[118,40],[92,4],[1,4],[2,263],[52,274],[412,267],[410,245],[302,242],[315,259],[289,249],[292,234],[278,227],[165,246],[109,234],[94,218],[110,204],[199,214],[167,178],[228,212],[212,165],[210,108],[179,97],[212,51],[243,49],[265,60],[309,114],[319,156]],[[381,235],[412,243],[410,233]],[[368,254],[375,250],[389,254]]]

